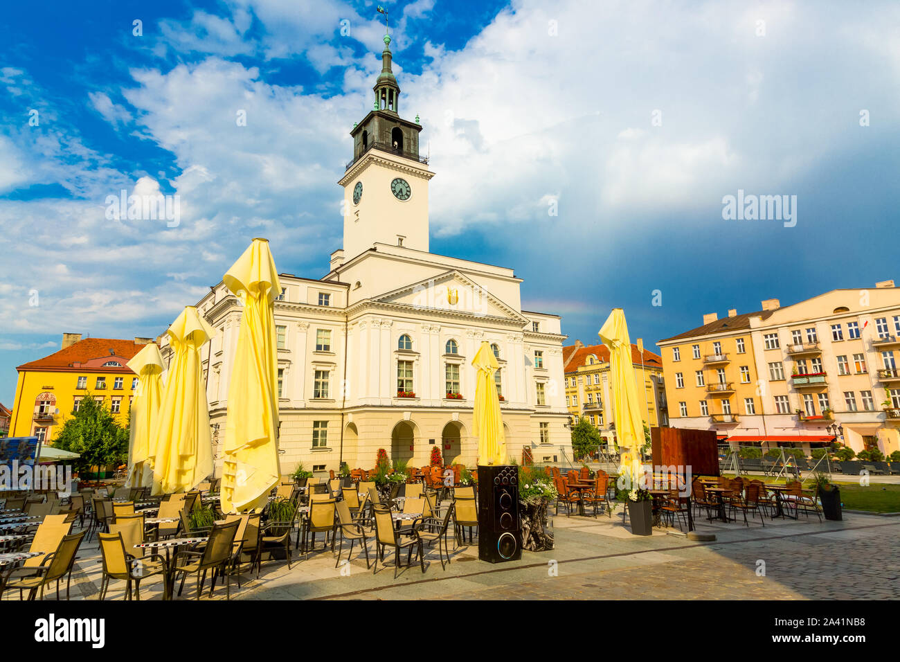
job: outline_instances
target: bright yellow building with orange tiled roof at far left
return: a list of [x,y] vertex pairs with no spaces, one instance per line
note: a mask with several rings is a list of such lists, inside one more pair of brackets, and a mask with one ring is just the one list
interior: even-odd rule
[[80,333],[63,333],[57,352],[16,368],[9,436],[51,442],[85,395],[103,401],[127,424],[138,376],[125,364],[150,340],[82,340]]

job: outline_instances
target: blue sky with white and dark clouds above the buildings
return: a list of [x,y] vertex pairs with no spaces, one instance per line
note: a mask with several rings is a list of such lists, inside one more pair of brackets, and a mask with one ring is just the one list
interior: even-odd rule
[[[523,306],[571,340],[596,342],[614,306],[651,344],[703,313],[900,280],[896,3],[382,4],[437,172],[432,251],[515,268]],[[0,402],[63,331],[164,331],[254,236],[280,270],[328,270],[375,5],[4,8]],[[177,193],[180,224],[107,220],[122,188]],[[797,225],[724,220],[738,189],[797,195]]]

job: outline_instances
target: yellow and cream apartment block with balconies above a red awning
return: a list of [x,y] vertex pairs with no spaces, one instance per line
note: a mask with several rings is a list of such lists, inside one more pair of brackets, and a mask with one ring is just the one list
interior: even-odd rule
[[719,319],[657,345],[671,425],[732,446],[900,449],[900,288],[839,289]]

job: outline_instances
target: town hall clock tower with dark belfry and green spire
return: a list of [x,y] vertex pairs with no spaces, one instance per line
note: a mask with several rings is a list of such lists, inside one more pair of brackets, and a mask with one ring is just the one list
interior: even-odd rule
[[400,86],[392,72],[391,37],[384,35],[382,72],[372,110],[354,125],[353,160],[344,177],[344,258],[375,243],[428,252],[428,159],[419,156],[419,116],[400,115]]

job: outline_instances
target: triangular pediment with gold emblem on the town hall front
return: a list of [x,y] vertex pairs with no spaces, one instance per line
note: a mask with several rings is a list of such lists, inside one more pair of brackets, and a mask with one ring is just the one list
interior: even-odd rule
[[409,306],[419,310],[494,317],[515,320],[523,324],[527,322],[521,313],[455,269],[376,296],[373,301],[380,304]]

